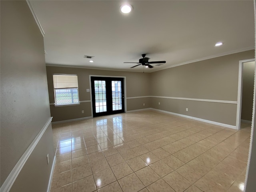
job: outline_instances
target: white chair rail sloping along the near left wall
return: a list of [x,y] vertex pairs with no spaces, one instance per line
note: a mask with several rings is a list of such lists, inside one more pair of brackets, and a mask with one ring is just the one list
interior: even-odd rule
[[14,184],[14,182],[15,182],[16,178],[18,177],[20,171],[22,170],[24,164],[26,163],[30,154],[33,152],[34,148],[36,147],[36,145],[38,144],[38,142],[42,138],[44,132],[46,131],[46,129],[50,125],[51,121],[52,121],[52,117],[50,117],[48,119],[46,124],[43,126],[43,128],[40,130],[40,132],[37,134],[37,136],[34,138],[32,143],[30,144],[30,146],[28,146],[27,150],[21,156],[20,160],[18,160],[18,162],[16,163],[16,165],[14,166],[14,168],[12,169],[12,171],[10,172],[10,174],[8,175],[8,177],[6,178],[4,183],[2,184],[2,186],[0,188],[1,192],[10,191],[10,189],[12,188],[12,185]]

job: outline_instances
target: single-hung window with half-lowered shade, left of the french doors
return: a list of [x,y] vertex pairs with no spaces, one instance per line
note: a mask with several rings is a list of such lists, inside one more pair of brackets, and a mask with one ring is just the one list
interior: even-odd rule
[[77,75],[54,74],[55,106],[79,104]]

